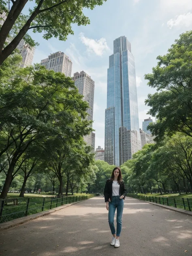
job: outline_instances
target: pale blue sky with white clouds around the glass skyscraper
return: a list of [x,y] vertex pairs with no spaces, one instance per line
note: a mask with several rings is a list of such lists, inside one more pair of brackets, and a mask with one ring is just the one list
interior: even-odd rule
[[107,0],[94,10],[84,10],[90,25],[73,25],[74,35],[67,41],[32,37],[36,47],[34,63],[40,63],[50,53],[62,51],[73,62],[72,75],[84,70],[95,81],[94,124],[95,146],[104,148],[105,109],[107,106],[107,68],[113,54],[113,40],[126,36],[135,58],[139,126],[148,118],[145,106],[154,89],[147,85],[144,75],[156,66],[158,55],[166,54],[179,34],[192,29],[192,0]]

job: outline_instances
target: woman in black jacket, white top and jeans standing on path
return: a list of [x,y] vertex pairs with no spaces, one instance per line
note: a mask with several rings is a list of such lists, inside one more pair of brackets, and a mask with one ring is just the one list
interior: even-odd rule
[[[115,248],[120,246],[119,236],[122,230],[122,213],[124,208],[124,199],[126,196],[126,188],[122,179],[122,173],[119,167],[113,169],[111,179],[108,179],[105,184],[104,196],[106,208],[109,211],[108,219],[111,233],[113,235],[111,245]],[[114,226],[114,215],[117,208],[117,233]]]

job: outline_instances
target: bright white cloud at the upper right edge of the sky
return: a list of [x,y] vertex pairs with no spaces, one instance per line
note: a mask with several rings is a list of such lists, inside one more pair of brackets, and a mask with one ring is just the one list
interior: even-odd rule
[[175,19],[170,19],[167,21],[167,26],[171,29],[173,27],[190,27],[192,26],[192,13],[185,13],[177,15]]

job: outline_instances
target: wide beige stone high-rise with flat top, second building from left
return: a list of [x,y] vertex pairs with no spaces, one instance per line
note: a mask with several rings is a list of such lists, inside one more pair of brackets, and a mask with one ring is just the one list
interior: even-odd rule
[[71,77],[72,64],[69,57],[61,51],[50,54],[47,59],[41,60],[41,65],[48,70],[64,73],[66,77]]

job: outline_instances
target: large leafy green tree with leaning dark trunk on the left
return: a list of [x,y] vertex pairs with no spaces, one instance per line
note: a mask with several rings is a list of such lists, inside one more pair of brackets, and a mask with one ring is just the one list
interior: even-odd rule
[[65,138],[65,143],[90,132],[88,104],[74,82],[42,66],[24,68],[0,95],[0,157],[9,150],[9,169],[0,198],[6,197],[15,165],[22,154],[47,138]]

